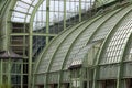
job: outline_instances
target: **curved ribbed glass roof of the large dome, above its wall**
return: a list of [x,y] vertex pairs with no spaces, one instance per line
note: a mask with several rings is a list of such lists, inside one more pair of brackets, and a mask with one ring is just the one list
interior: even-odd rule
[[[61,70],[67,70],[76,59],[84,61],[88,51],[94,46],[94,42],[101,42],[98,57],[92,58],[92,64],[110,65],[120,63],[124,56],[124,50],[132,34],[132,6],[123,7],[109,13],[100,14],[89,21],[84,21],[67,31],[64,31],[43,51],[36,67],[36,78],[46,73],[56,73],[59,76]],[[90,45],[92,44],[92,45]],[[88,46],[90,46],[88,48]],[[86,50],[85,50],[86,48]],[[131,54],[131,47],[128,48],[128,55]],[[96,55],[97,56],[97,55]],[[127,59],[125,59],[127,61]],[[81,62],[77,61],[78,64]],[[107,70],[109,72],[109,70]],[[101,72],[105,74],[105,72]],[[64,77],[64,76],[63,76]],[[65,79],[65,78],[64,78]],[[36,80],[36,84],[38,80]]]

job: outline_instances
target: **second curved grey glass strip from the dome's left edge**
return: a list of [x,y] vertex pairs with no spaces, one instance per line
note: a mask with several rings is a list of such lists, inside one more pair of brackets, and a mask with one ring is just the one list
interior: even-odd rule
[[[75,30],[63,42],[63,44],[59,46],[59,50],[57,51],[55,57],[53,58],[53,64],[52,64],[52,69],[51,70],[59,70],[63,61],[65,59],[65,56],[72,45],[72,43],[75,41],[75,38],[78,36],[78,34],[82,31],[84,29],[77,29]],[[59,59],[59,62],[58,62]],[[57,69],[54,69],[55,65],[54,63],[57,63],[59,67],[56,67]]]

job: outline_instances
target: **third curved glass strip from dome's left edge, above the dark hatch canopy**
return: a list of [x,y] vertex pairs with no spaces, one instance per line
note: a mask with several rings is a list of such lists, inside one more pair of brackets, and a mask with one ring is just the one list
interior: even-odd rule
[[[90,38],[90,36],[92,35],[92,33],[98,29],[98,26],[103,23],[105,20],[107,20],[112,13],[102,16],[101,19],[99,19],[98,21],[96,21],[94,24],[91,24],[90,26],[88,26],[86,29],[86,31],[84,31],[81,33],[81,35],[79,35],[76,44],[74,45],[74,47],[72,48],[72,52],[69,53],[69,56],[67,57],[67,59],[73,59],[80,48],[82,48],[84,46],[86,46],[88,40]],[[96,26],[95,26],[96,24]],[[87,24],[86,24],[87,25]],[[67,62],[68,62],[67,61]],[[67,63],[68,64],[68,63]],[[66,65],[67,66],[67,65]],[[65,67],[68,68],[68,67]]]

